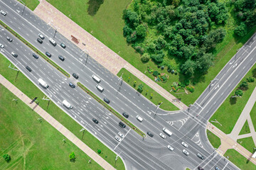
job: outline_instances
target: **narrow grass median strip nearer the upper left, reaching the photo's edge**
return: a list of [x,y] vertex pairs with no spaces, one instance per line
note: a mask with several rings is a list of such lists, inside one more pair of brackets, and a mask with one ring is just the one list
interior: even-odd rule
[[6,28],[6,30],[9,30],[10,33],[12,33],[14,36],[16,36],[16,38],[18,38],[19,40],[21,40],[24,44],[26,44],[28,47],[31,48],[31,50],[33,50],[34,52],[36,52],[38,55],[40,55],[41,57],[43,57],[44,60],[46,60],[47,62],[49,62],[51,65],[53,65],[53,67],[55,67],[56,69],[58,69],[62,74],[64,74],[66,77],[70,77],[70,74],[68,74],[68,72],[65,72],[64,69],[62,69],[61,67],[58,66],[58,64],[55,64],[55,62],[53,62],[52,60],[50,60],[48,57],[46,57],[46,55],[44,55],[42,52],[40,52],[39,50],[36,49],[36,47],[34,47],[33,45],[31,45],[28,41],[26,41],[24,38],[21,37],[21,35],[18,35],[18,33],[16,33],[14,30],[12,30],[9,26],[6,26],[6,24],[4,22],[2,22],[0,20],[0,24],[1,26],[4,26],[4,28]]

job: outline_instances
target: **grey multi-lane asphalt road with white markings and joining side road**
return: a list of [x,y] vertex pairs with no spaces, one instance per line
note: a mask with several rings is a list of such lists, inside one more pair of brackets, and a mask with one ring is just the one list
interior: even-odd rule
[[[188,110],[167,112],[159,109],[155,115],[156,106],[153,103],[107,71],[92,57],[87,57],[85,52],[78,49],[72,42],[59,33],[55,33],[48,23],[41,21],[28,8],[24,8],[21,4],[16,5],[16,1],[10,0],[0,1],[0,9],[7,13],[6,16],[0,16],[1,21],[41,52],[50,52],[51,60],[69,74],[78,74],[79,78],[66,78],[41,57],[35,59],[32,56],[33,52],[4,28],[0,29],[0,43],[5,46],[1,53],[17,64],[18,69],[71,118],[110,147],[119,157],[122,157],[127,169],[185,169],[186,167],[196,169],[198,166],[203,166],[204,169],[215,169],[215,166],[220,169],[238,169],[215,152],[209,144],[206,137],[206,123],[255,63],[253,38],[225,65],[206,91]],[[38,33],[46,37],[42,44],[36,40],[39,38]],[[6,36],[13,38],[14,41],[9,42]],[[50,44],[48,38],[53,38],[57,45]],[[65,49],[60,47],[62,42],[66,45]],[[18,57],[13,57],[11,52],[16,52]],[[59,60],[58,55],[65,57],[65,60]],[[26,66],[31,67],[32,72],[28,72]],[[97,90],[97,82],[92,79],[93,74],[100,77],[103,92]],[[39,78],[49,84],[48,89],[43,89],[38,84]],[[68,85],[69,82],[76,84],[78,81],[100,98],[109,98],[112,108],[121,114],[128,113],[129,121],[145,133],[150,131],[154,137],[147,135],[143,138],[128,127],[119,127],[120,120],[114,115],[79,87],[72,89]],[[65,108],[62,104],[64,99],[74,107],[70,110]],[[144,118],[142,123],[136,119],[137,115]],[[92,118],[99,120],[99,123],[93,123]],[[173,132],[171,137],[163,132],[164,127]],[[118,132],[124,134],[121,142],[114,139]],[[160,133],[166,135],[166,139],[162,139],[159,136]],[[188,144],[188,148],[181,145],[183,141]],[[167,145],[174,147],[174,151],[167,149]],[[189,152],[188,156],[183,154],[183,149]],[[203,160],[196,156],[198,153],[203,155]]]

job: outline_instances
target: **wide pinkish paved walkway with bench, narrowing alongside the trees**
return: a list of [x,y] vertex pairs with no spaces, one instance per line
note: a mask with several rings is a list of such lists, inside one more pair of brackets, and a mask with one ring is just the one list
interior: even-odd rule
[[[65,36],[65,38],[68,38],[68,40],[71,42],[74,42],[76,38],[77,41],[74,42],[74,44],[80,49],[85,49],[86,47],[86,50],[90,56],[102,64],[103,67],[110,70],[112,74],[116,75],[120,69],[124,67],[129,72],[134,74],[134,76],[144,81],[144,83],[154,89],[154,91],[161,94],[161,96],[164,96],[164,98],[173,103],[179,109],[184,110],[188,108],[184,103],[178,101],[178,98],[172,96],[169,91],[166,91],[164,88],[149,79],[149,77],[146,77],[145,74],[110,50],[110,48],[100,42],[100,40],[97,40],[90,35],[90,33],[87,33],[86,30],[78,26],[78,24],[58,11],[57,8],[49,4],[46,0],[40,1],[40,4],[34,10],[34,13],[49,25],[57,28],[58,32]],[[71,35],[73,35],[75,38],[72,38]]]

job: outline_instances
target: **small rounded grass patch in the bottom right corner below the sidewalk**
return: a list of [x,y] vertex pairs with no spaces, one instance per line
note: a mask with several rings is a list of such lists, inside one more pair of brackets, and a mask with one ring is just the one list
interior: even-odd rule
[[248,169],[256,169],[256,165],[252,164],[252,162],[249,162],[245,157],[242,156],[239,152],[237,152],[235,149],[228,149],[227,152],[225,152],[224,157],[229,157],[228,159],[230,162],[233,162],[238,168],[242,170],[248,170]]

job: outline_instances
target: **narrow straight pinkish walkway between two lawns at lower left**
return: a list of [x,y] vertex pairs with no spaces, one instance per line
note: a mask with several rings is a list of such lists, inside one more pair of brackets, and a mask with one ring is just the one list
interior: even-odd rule
[[46,120],[50,125],[53,126],[56,130],[61,132],[65,137],[67,137],[70,142],[73,142],[77,147],[79,147],[85,154],[87,154],[90,158],[95,160],[97,164],[102,166],[103,169],[114,169],[112,165],[106,162],[102,157],[100,157],[97,153],[95,153],[90,147],[85,145],[84,142],[78,139],[72,132],[70,132],[67,128],[61,125],[57,120],[55,120],[51,115],[49,115],[46,111],[43,110],[40,106],[38,106],[35,102],[31,102],[31,98],[28,98],[25,94],[22,93],[19,89],[16,88],[13,84],[11,84],[7,79],[5,79],[0,74],[0,84],[3,84],[9,91],[11,91],[14,95],[16,95],[21,101],[26,103],[30,108],[33,109],[38,115],[40,115],[44,120]]

